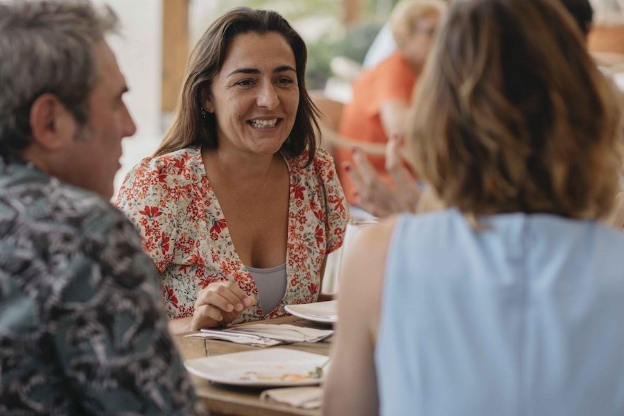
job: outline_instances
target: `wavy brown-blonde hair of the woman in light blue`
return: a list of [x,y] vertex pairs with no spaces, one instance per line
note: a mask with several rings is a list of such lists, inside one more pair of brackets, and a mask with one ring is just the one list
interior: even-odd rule
[[415,92],[413,163],[467,216],[609,214],[621,107],[559,0],[455,1]]

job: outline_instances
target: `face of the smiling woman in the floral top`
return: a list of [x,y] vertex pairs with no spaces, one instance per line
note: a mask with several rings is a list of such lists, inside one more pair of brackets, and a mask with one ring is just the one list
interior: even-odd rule
[[299,107],[293,49],[279,33],[244,33],[229,45],[204,107],[220,150],[272,155],[291,134]]

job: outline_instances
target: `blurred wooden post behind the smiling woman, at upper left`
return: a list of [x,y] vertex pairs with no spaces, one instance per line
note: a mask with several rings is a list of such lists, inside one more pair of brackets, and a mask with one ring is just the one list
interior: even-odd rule
[[163,112],[173,112],[189,58],[189,0],[162,2]]

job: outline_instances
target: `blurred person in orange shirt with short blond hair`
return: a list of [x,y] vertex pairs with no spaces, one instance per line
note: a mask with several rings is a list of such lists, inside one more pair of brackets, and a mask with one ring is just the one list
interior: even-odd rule
[[[392,10],[390,28],[397,49],[354,83],[353,99],[340,119],[340,135],[361,143],[385,144],[390,136],[404,134],[412,91],[445,9],[441,0],[402,0]],[[351,157],[350,148],[336,150],[338,177],[347,201],[355,205],[345,164]],[[379,173],[385,171],[384,157],[371,156],[371,162]]]

